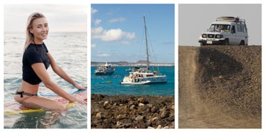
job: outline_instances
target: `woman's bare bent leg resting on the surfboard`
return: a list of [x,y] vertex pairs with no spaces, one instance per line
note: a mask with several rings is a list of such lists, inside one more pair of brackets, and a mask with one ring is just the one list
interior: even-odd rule
[[24,99],[20,101],[23,106],[29,107],[29,108],[43,108],[45,110],[66,110],[66,105],[61,104],[58,101],[54,101],[52,99],[47,99],[44,97],[27,97],[27,99]]

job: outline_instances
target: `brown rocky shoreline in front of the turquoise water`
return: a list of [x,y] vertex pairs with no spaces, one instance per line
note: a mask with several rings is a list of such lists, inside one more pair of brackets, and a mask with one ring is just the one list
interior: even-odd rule
[[91,94],[91,129],[174,129],[174,96]]

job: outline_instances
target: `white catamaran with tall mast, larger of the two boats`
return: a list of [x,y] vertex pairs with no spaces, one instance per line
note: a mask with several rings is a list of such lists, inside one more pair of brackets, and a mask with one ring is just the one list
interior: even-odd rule
[[149,69],[149,50],[147,44],[146,24],[144,17],[144,33],[146,44],[146,67],[133,69],[130,72],[130,76],[125,76],[121,81],[121,84],[147,84],[147,83],[167,83],[167,76],[158,74],[157,71],[151,71]]

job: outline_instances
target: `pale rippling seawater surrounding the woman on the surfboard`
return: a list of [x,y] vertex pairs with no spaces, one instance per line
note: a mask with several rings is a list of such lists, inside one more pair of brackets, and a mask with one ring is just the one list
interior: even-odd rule
[[[24,33],[4,33],[4,103],[12,101],[14,92],[22,82],[22,55],[24,47]],[[56,63],[80,85],[87,85],[87,56],[86,33],[50,33],[44,41],[47,49],[52,53]],[[52,72],[47,72],[54,83],[68,93],[77,89]],[[39,96],[56,96],[54,92],[40,83]],[[4,115],[4,128],[54,128],[54,129],[86,129],[87,107],[77,105],[68,108],[65,113],[44,112],[18,115]]]

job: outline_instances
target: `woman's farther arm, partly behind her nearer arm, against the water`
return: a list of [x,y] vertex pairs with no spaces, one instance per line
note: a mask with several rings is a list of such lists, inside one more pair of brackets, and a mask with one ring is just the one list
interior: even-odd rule
[[86,86],[81,86],[81,85],[78,85],[77,83],[75,83],[75,81],[73,81],[73,79],[71,79],[70,76],[68,76],[68,74],[66,74],[66,72],[64,72],[63,69],[61,69],[61,67],[59,67],[59,65],[56,64],[56,62],[55,62],[55,60],[52,57],[52,54],[50,52],[47,53],[47,56],[49,57],[52,69],[56,74],[61,76],[61,78],[63,78],[64,80],[68,81],[68,83],[75,86],[75,88],[80,89],[80,90],[86,89]]

